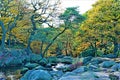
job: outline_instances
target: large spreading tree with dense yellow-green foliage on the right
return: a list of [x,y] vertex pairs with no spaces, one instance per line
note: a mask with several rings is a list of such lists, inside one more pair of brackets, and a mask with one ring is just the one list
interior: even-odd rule
[[116,54],[120,42],[119,6],[119,0],[99,0],[94,4],[87,12],[87,20],[80,27],[82,31],[78,36],[81,40],[89,42],[95,50],[97,42],[101,45],[113,42],[114,54]]

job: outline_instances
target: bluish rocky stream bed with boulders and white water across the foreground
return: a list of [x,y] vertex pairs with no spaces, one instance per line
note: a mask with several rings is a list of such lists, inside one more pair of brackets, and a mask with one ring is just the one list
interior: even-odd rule
[[120,58],[41,58],[6,51],[0,54],[0,80],[120,80]]

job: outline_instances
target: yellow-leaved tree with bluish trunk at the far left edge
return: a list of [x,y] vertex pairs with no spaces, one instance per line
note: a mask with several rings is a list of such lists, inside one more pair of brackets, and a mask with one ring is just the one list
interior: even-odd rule
[[16,26],[20,14],[19,2],[17,0],[0,0],[0,10],[0,26],[2,29],[1,48],[4,49],[6,34],[11,32]]

